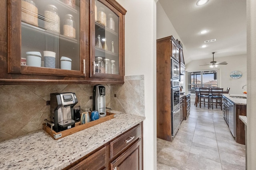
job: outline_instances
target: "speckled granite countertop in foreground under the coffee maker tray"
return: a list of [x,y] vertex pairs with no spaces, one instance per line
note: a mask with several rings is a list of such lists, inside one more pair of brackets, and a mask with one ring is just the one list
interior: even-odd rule
[[111,112],[116,113],[115,118],[58,140],[39,130],[0,142],[0,169],[65,168],[145,119],[129,113]]

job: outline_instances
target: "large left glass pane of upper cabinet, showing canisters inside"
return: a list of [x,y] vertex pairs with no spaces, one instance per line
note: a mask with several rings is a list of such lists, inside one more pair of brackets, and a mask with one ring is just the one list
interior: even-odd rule
[[21,65],[80,70],[80,0],[21,0]]

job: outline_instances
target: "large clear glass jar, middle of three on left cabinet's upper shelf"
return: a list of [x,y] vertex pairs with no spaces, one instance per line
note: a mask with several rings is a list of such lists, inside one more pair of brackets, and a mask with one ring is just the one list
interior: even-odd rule
[[44,16],[45,29],[60,33],[60,17],[58,15],[58,8],[54,5],[48,5],[44,11]]

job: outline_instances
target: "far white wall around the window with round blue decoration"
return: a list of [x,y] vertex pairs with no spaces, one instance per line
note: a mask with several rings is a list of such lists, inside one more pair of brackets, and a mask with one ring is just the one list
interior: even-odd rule
[[[215,54],[216,55],[216,54]],[[190,63],[186,64],[186,71],[200,71],[200,70],[213,70],[209,67],[209,65],[206,66],[199,66],[202,64],[210,63],[212,59],[202,59],[202,60],[194,60]],[[221,88],[224,88],[226,90],[228,87],[230,87],[230,94],[242,94],[242,92],[247,90],[247,86],[245,86],[245,89],[242,89],[242,86],[244,86],[247,83],[246,76],[247,76],[247,70],[246,70],[246,55],[236,55],[236,56],[229,56],[229,57],[214,57],[214,61],[217,62],[223,62],[226,61],[228,64],[226,65],[218,65],[218,86]],[[239,79],[233,79],[230,77],[230,72],[233,70],[239,70],[242,72],[242,78]],[[187,80],[186,74],[186,80]]]

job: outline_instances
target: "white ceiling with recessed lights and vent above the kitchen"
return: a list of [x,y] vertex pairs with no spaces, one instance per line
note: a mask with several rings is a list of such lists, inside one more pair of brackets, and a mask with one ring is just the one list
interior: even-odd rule
[[[159,0],[186,48],[185,61],[246,54],[246,0]],[[208,30],[202,35],[200,31]],[[214,42],[204,43],[206,40]],[[202,48],[202,45],[207,45]],[[218,62],[218,59],[215,61]]]

